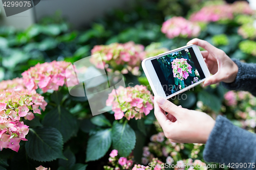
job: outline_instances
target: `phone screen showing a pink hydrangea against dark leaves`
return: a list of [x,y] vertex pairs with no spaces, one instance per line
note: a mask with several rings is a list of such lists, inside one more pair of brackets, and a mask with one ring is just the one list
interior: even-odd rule
[[151,60],[166,96],[205,78],[193,47]]

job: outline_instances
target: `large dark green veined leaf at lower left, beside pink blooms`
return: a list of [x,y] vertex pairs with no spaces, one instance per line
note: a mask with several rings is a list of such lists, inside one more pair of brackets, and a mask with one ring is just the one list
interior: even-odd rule
[[37,161],[66,159],[61,133],[52,127],[30,128],[25,148],[28,156]]

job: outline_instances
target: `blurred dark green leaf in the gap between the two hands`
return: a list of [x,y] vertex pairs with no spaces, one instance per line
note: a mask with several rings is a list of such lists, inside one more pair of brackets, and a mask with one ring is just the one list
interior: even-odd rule
[[219,112],[221,109],[221,100],[214,94],[206,91],[198,93],[198,100],[202,101],[205,105],[209,106],[212,110]]

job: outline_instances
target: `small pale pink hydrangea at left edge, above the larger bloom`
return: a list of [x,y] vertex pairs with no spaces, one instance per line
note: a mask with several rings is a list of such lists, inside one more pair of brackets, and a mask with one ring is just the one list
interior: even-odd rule
[[25,89],[22,78],[15,78],[13,80],[4,80],[0,82],[0,90],[14,89],[22,90]]

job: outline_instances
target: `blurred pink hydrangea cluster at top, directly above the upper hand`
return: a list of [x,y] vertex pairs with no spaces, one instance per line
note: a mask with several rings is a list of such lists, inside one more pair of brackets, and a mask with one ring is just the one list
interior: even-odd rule
[[233,13],[231,6],[224,4],[205,6],[200,11],[193,13],[189,20],[199,22],[216,22],[232,18]]

